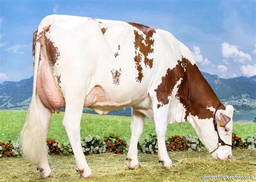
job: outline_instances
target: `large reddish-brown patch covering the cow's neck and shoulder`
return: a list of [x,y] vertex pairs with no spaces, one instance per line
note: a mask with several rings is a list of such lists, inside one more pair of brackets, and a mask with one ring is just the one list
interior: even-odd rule
[[[185,71],[183,68],[185,68]],[[197,65],[192,65],[184,57],[178,60],[176,67],[167,69],[165,76],[161,79],[162,82],[155,89],[157,100],[159,101],[157,108],[169,103],[168,97],[180,78],[182,80],[176,97],[179,98],[186,109],[185,119],[189,114],[198,116],[199,119],[212,118],[213,112],[206,108],[213,107],[217,109],[220,101],[199,71]],[[225,109],[225,106],[221,105],[219,109]]]

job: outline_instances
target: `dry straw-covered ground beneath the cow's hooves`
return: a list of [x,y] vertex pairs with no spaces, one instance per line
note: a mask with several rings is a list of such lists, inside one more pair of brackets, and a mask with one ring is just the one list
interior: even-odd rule
[[[169,152],[175,170],[162,169],[157,154],[139,153],[143,169],[128,170],[126,155],[103,153],[86,156],[91,167],[93,181],[198,181],[201,176],[243,176],[256,177],[256,156],[253,150],[233,150],[233,159],[214,160],[208,152]],[[0,181],[42,180],[36,165],[18,158],[0,158]],[[83,180],[75,171],[73,156],[49,156],[52,178],[45,180]]]

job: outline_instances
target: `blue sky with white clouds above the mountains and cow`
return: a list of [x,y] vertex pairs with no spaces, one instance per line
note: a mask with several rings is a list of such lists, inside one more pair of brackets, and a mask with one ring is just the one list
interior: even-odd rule
[[256,74],[255,2],[0,0],[0,83],[32,76],[32,36],[52,14],[136,22],[169,31],[200,71],[221,78]]

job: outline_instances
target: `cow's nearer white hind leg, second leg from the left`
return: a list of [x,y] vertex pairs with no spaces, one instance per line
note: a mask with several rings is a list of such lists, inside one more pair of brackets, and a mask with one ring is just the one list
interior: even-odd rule
[[[76,95],[76,94],[74,94]],[[91,178],[92,172],[88,166],[82,145],[80,142],[80,120],[83,111],[83,100],[66,99],[65,115],[63,118],[63,125],[68,134],[70,144],[74,156],[76,158],[76,171],[84,178]]]

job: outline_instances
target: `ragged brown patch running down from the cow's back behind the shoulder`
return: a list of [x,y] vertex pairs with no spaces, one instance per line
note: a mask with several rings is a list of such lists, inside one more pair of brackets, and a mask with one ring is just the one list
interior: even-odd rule
[[136,78],[136,81],[142,82],[143,78],[143,68],[141,66],[142,59],[144,59],[145,67],[149,66],[150,68],[153,67],[153,58],[149,59],[147,56],[150,53],[153,53],[154,49],[154,39],[153,33],[156,33],[156,30],[153,27],[145,26],[138,23],[130,23],[128,24],[136,27],[136,29],[139,29],[145,34],[145,39],[143,37],[143,34],[139,34],[137,30],[134,30],[135,40],[134,40],[134,48],[135,48],[135,57],[134,61],[136,64],[136,69],[138,70],[138,76]]

